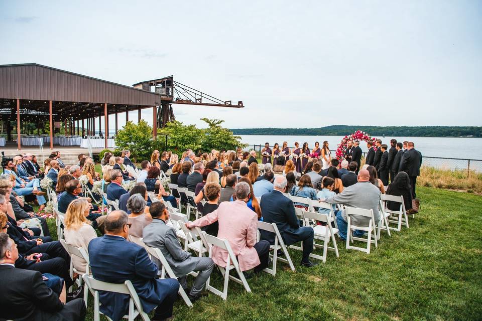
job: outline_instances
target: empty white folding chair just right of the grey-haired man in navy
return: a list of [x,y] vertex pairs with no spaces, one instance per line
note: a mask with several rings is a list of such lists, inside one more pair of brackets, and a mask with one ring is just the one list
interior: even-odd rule
[[[318,254],[311,253],[310,257],[318,260],[322,260],[323,263],[325,263],[326,252],[328,249],[335,251],[336,257],[339,257],[338,246],[336,245],[336,240],[335,240],[335,234],[338,233],[338,229],[331,227],[331,221],[332,221],[331,214],[325,215],[317,212],[303,211],[303,217],[305,220],[309,222],[313,221],[312,228],[314,232],[314,239],[323,241],[323,244],[318,244],[315,241],[313,241],[313,246],[315,248],[323,249],[323,255],[320,256]],[[316,222],[326,223],[326,226],[317,225]],[[333,242],[333,247],[328,246],[328,244],[330,243],[330,239]]]

